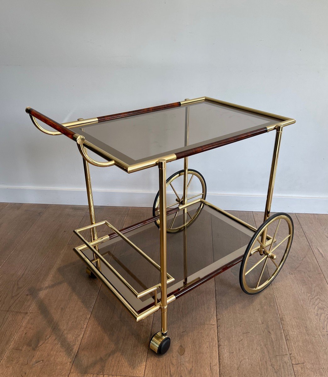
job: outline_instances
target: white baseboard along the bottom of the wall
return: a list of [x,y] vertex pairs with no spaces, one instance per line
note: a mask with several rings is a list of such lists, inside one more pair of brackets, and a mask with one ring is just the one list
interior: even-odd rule
[[[95,205],[152,207],[155,192],[93,190]],[[206,199],[225,210],[263,211],[264,195],[208,193]],[[168,197],[170,203],[174,198]],[[82,189],[40,187],[0,187],[0,202],[86,205]],[[271,211],[297,213],[328,213],[328,198],[306,196],[274,196]]]

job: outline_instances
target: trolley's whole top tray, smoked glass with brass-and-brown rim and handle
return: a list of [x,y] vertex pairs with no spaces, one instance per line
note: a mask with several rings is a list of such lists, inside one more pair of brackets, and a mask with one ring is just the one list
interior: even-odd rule
[[26,111],[57,133],[77,141],[84,137],[84,147],[128,173],[155,166],[159,158],[170,162],[295,123],[209,97],[63,124]]

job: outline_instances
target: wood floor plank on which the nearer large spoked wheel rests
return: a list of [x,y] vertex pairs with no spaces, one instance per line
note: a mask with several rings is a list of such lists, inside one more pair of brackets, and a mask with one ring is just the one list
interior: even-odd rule
[[[251,212],[231,213],[255,225]],[[220,377],[294,376],[272,288],[245,294],[239,269],[215,277]]]

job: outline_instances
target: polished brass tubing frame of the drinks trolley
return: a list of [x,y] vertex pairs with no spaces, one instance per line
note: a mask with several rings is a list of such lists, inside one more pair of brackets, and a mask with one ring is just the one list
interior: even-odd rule
[[[188,132],[189,132],[189,105],[201,103],[201,102],[210,102],[215,104],[221,104],[226,107],[231,107],[234,109],[240,109],[244,110],[246,112],[250,112],[252,114],[257,115],[264,115],[269,116],[270,118],[276,119],[277,123],[271,124],[270,126],[267,126],[267,132],[276,130],[276,138],[274,143],[274,149],[273,149],[273,158],[271,162],[271,170],[270,170],[270,178],[268,182],[268,192],[267,192],[267,201],[265,205],[265,216],[264,220],[266,220],[270,216],[270,210],[271,210],[271,202],[272,202],[272,196],[273,196],[273,188],[274,188],[274,181],[276,176],[276,169],[277,169],[277,160],[279,156],[279,148],[280,148],[280,142],[281,142],[281,136],[282,136],[282,130],[285,126],[288,126],[289,124],[293,124],[296,121],[292,118],[287,118],[284,116],[276,115],[273,113],[263,112],[260,110],[251,109],[244,106],[239,106],[236,104],[228,103],[225,101],[216,100],[214,98],[210,97],[199,97],[194,98],[192,100],[185,99],[184,101],[181,101],[181,106],[186,106],[186,115],[185,115],[185,144],[188,145]],[[31,109],[26,108],[26,112],[29,112]],[[35,127],[37,127],[41,132],[46,133],[48,135],[61,135],[61,132],[54,132],[44,129],[40,126],[38,121],[36,120],[35,116],[32,116],[30,114],[31,120],[34,123]],[[59,126],[64,126],[67,129],[73,129],[81,126],[87,126],[90,124],[98,123],[98,118],[90,118],[90,119],[79,119],[77,121],[73,122],[67,122],[57,124],[57,129]],[[80,237],[80,239],[84,242],[84,245],[81,245],[79,247],[74,248],[75,253],[83,260],[83,262],[86,264],[87,269],[89,271],[92,271],[95,276],[103,282],[103,284],[115,295],[115,297],[120,300],[120,302],[123,304],[123,306],[127,309],[127,311],[136,319],[138,322],[141,319],[146,318],[150,314],[154,313],[155,311],[161,309],[161,334],[163,337],[167,334],[167,305],[168,303],[175,300],[175,296],[172,294],[169,297],[167,297],[167,283],[172,282],[174,278],[170,276],[167,273],[167,225],[166,225],[166,163],[170,161],[174,161],[177,156],[172,153],[166,156],[162,156],[161,158],[153,158],[149,159],[147,161],[138,162],[135,164],[127,164],[124,161],[121,161],[119,158],[110,155],[110,153],[105,152],[104,150],[100,149],[99,147],[95,146],[94,144],[90,143],[85,139],[83,135],[79,135],[78,133],[75,133],[72,137],[78,146],[78,150],[81,153],[83,157],[83,167],[84,167],[84,175],[86,180],[86,188],[87,188],[87,199],[88,199],[88,205],[89,205],[89,214],[90,214],[90,222],[91,225],[80,228],[78,230],[75,230],[74,232]],[[87,149],[92,150],[93,152],[97,153],[104,159],[106,159],[106,162],[100,162],[96,161],[93,158],[91,158],[87,154]],[[107,221],[101,221],[96,223],[95,219],[95,211],[94,211],[94,204],[93,204],[93,197],[92,197],[92,186],[91,186],[91,177],[90,177],[90,170],[89,170],[89,164],[92,164],[97,167],[108,167],[116,165],[120,167],[121,169],[125,170],[127,173],[137,172],[139,170],[147,169],[152,166],[158,166],[159,171],[159,238],[160,238],[160,266],[156,264],[149,256],[147,256],[145,253],[143,253],[142,250],[140,250],[136,245],[134,245],[128,238],[124,236],[123,233],[118,231],[115,227],[113,227],[109,222]],[[187,207],[190,205],[193,205],[195,203],[202,203],[205,205],[208,205],[212,209],[221,212],[225,216],[229,216],[231,219],[234,219],[234,221],[239,222],[239,224],[244,225],[248,227],[252,231],[256,231],[256,228],[251,226],[250,224],[245,223],[241,219],[236,218],[235,216],[227,213],[226,211],[216,207],[213,204],[210,204],[209,202],[205,201],[204,199],[196,199],[195,201],[187,203],[187,173],[188,173],[188,157],[184,157],[184,187],[183,187],[183,203],[179,206],[178,210],[183,210],[184,213],[184,219],[186,221],[187,216]],[[151,287],[147,290],[144,290],[143,292],[137,292],[119,273],[116,271],[109,262],[106,261],[106,259],[103,258],[103,256],[98,251],[98,245],[105,242],[109,239],[109,235],[103,236],[98,238],[97,237],[97,226],[106,224],[109,228],[111,228],[118,236],[120,236],[124,241],[126,241],[131,247],[133,247],[139,254],[141,254],[143,257],[145,257],[153,266],[155,266],[161,273],[161,282],[160,284],[155,285],[154,287]],[[81,234],[81,231],[84,230],[90,230],[90,236],[91,241],[88,242]],[[185,239],[185,262],[187,258],[187,245],[186,245],[186,237]],[[275,241],[274,237],[270,237],[267,235],[266,230],[262,234],[261,242],[266,247],[268,245],[268,242]],[[254,250],[251,250],[251,253],[260,251],[260,253],[263,253],[265,251],[265,247],[257,247]],[[89,248],[89,250],[93,253],[93,260],[90,261],[88,259],[83,251]],[[126,285],[127,288],[136,296],[136,297],[143,297],[146,294],[153,293],[154,295],[154,305],[147,310],[143,311],[142,313],[138,313],[131,305],[130,303],[122,296],[122,294],[104,277],[104,275],[101,273],[101,266],[100,261],[103,262],[110,270],[123,282],[124,285]],[[94,265],[96,263],[96,266]],[[186,263],[185,263],[186,264]],[[232,266],[232,265],[231,265]],[[185,272],[185,281],[187,277],[187,270]],[[157,290],[161,289],[161,301],[157,302]]]

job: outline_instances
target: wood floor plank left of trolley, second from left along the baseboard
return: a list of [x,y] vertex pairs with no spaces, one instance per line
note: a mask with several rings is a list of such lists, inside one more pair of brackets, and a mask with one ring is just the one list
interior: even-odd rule
[[29,311],[85,211],[49,205],[0,268],[0,310]]

